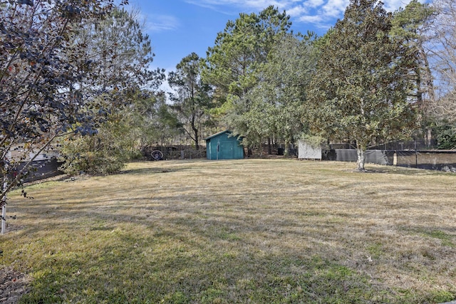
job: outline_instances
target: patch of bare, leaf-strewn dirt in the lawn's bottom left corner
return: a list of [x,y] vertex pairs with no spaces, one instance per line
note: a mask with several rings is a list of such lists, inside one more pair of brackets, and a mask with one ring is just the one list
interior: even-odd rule
[[11,267],[1,266],[0,303],[18,303],[21,296],[27,293],[28,284],[28,277],[24,273],[14,271]]

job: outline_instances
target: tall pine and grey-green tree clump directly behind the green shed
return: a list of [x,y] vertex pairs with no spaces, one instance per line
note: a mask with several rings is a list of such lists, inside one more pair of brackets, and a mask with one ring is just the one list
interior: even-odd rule
[[[284,109],[292,108],[291,103],[298,100],[299,93],[291,93],[291,90],[296,88],[299,80],[286,89],[289,83],[284,77],[295,77],[286,72],[296,72],[296,78],[301,73],[298,68],[285,71],[279,66],[283,63],[281,56],[296,55],[285,54],[287,43],[291,52],[299,50],[295,47],[299,39],[294,41],[291,35],[285,38],[290,27],[289,16],[274,6],[259,14],[240,14],[238,19],[227,23],[224,31],[217,35],[215,46],[207,52],[203,78],[215,87],[215,97],[222,103],[219,114],[226,114],[225,125],[235,134],[242,135],[244,145],[249,147],[282,132],[289,140],[300,125],[299,110],[296,107],[292,111]],[[287,66],[299,66],[296,63],[298,61],[291,60]],[[277,71],[279,73],[275,75]],[[289,95],[276,100],[283,93],[279,92],[280,87]],[[294,97],[290,97],[293,94]],[[294,125],[294,122],[298,123]]]

